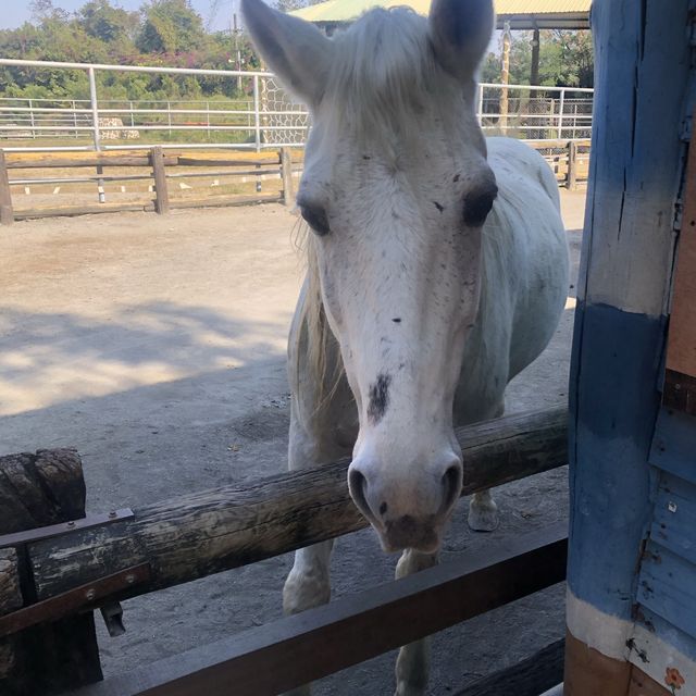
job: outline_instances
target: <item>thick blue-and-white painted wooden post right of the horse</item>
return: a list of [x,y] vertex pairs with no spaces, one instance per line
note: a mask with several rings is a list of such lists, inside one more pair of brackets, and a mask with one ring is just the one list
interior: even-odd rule
[[[696,651],[673,649],[668,637],[649,662],[636,649],[646,630],[636,621],[638,571],[657,495],[648,459],[693,105],[695,4],[593,5],[595,121],[571,376],[564,696],[659,693],[671,659],[693,670],[689,689],[679,693],[696,694]],[[630,691],[642,672],[659,691]]]

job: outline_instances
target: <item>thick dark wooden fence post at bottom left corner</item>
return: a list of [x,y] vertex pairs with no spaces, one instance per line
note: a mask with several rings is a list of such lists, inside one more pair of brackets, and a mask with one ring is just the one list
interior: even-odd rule
[[[85,481],[77,452],[0,457],[0,534],[83,517]],[[26,547],[0,549],[0,614],[35,601]],[[91,612],[0,638],[2,696],[48,696],[101,679]]]

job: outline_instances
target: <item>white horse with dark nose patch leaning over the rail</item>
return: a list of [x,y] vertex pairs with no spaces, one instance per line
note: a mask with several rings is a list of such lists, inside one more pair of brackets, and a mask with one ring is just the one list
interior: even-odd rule
[[[490,0],[434,0],[427,20],[372,10],[333,39],[261,0],[244,14],[313,124],[297,196],[311,233],[289,336],[289,467],[352,452],[352,499],[384,549],[403,550],[402,576],[437,562],[462,485],[453,426],[502,414],[507,383],[563,310],[557,183],[539,154],[486,141],[476,122]],[[487,492],[469,523],[497,525]],[[286,612],[328,601],[331,549],[297,551]],[[422,694],[427,664],[426,642],[402,648],[397,694]]]

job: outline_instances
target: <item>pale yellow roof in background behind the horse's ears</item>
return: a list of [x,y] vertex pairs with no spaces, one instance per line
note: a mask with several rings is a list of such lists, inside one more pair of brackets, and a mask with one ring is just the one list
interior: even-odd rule
[[[592,0],[494,0],[497,28],[588,29]],[[357,20],[370,8],[410,7],[426,15],[431,0],[326,0],[290,12],[319,25],[340,25]]]

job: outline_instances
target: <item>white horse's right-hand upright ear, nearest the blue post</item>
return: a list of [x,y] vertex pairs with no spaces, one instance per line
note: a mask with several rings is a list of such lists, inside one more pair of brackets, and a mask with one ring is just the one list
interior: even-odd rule
[[440,65],[460,79],[471,79],[493,34],[492,0],[433,0],[428,25]]

